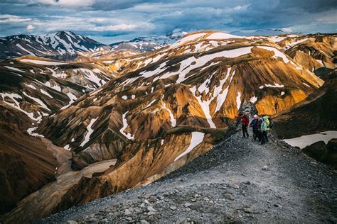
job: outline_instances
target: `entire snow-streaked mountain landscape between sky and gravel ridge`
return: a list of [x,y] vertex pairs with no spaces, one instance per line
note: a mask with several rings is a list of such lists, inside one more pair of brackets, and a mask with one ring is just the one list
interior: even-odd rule
[[33,221],[149,184],[211,150],[247,104],[275,116],[282,138],[312,134],[287,127],[334,114],[336,40],[213,30],[112,45],[63,31],[1,38],[2,218]]

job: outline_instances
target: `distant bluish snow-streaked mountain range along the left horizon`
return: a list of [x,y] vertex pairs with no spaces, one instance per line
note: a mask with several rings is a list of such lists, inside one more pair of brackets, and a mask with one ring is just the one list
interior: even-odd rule
[[105,45],[70,31],[42,35],[11,35],[0,38],[0,60],[33,55],[56,60],[75,60],[76,57],[102,58],[130,56],[157,50],[182,38],[184,32],[171,33]]

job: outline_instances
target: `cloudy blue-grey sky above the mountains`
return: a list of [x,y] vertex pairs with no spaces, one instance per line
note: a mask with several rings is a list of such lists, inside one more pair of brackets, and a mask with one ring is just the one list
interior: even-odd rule
[[0,0],[0,36],[71,30],[102,43],[173,31],[337,33],[337,0]]

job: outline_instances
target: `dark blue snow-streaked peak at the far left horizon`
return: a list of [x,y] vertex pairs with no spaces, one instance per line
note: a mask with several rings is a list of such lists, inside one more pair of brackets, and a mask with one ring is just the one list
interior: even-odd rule
[[102,43],[70,31],[42,35],[13,35],[0,38],[0,59],[33,55],[55,59],[72,59],[80,52],[103,47]]

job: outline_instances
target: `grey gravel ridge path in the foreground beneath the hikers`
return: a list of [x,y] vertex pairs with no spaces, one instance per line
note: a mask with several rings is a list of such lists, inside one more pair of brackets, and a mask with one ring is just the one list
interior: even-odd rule
[[336,223],[336,186],[336,172],[299,150],[238,132],[164,179],[41,223]]

